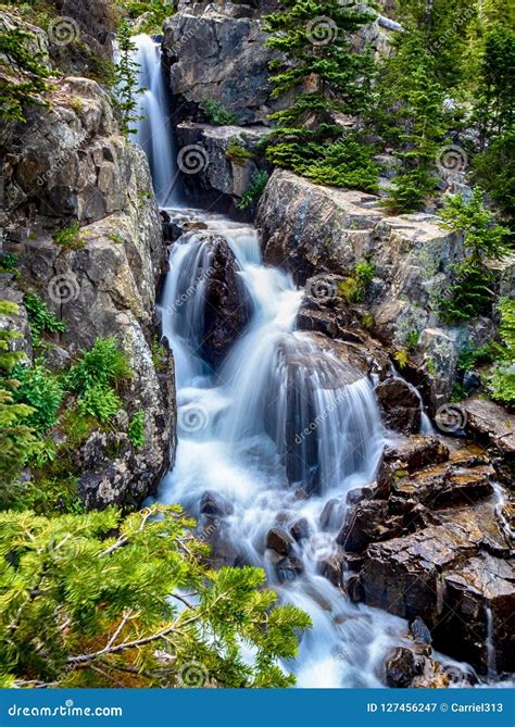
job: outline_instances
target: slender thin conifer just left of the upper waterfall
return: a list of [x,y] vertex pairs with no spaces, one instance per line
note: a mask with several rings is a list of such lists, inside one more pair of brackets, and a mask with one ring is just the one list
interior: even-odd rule
[[136,45],[131,35],[127,21],[122,21],[116,34],[118,62],[114,75],[116,80],[116,106],[121,115],[122,133],[126,136],[135,133],[134,125],[140,120],[140,115],[137,113],[137,96],[143,90],[138,89],[139,63],[134,60]]

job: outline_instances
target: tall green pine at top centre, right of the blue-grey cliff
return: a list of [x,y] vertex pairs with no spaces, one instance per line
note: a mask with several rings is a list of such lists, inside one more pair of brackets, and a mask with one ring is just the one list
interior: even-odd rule
[[356,158],[355,136],[346,135],[337,121],[341,114],[360,116],[369,101],[372,57],[354,52],[349,36],[373,15],[338,0],[282,4],[265,18],[267,45],[281,54],[271,63],[274,96],[288,103],[271,115],[277,128],[268,159],[321,184],[373,189],[377,173],[370,150],[363,146]]

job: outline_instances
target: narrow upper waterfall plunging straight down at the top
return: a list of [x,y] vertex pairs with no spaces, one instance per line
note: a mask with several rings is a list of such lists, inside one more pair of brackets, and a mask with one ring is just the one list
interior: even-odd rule
[[158,42],[146,35],[135,36],[134,60],[139,64],[137,114],[140,116],[131,140],[138,143],[149,158],[155,197],[160,206],[174,206],[179,202],[175,190],[177,170],[173,145],[173,129],[164,76],[161,68],[161,49]]

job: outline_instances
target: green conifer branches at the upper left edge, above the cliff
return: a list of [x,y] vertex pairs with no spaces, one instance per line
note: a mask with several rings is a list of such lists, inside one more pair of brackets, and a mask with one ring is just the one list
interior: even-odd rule
[[36,36],[21,28],[0,32],[0,118],[24,122],[24,105],[46,105],[53,75],[35,51]]

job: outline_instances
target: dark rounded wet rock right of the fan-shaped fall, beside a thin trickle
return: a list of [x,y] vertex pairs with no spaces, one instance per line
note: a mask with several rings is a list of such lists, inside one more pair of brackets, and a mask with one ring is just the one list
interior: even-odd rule
[[406,381],[388,378],[376,387],[376,396],[385,426],[402,434],[420,429],[420,400]]

